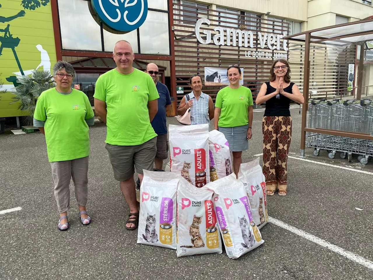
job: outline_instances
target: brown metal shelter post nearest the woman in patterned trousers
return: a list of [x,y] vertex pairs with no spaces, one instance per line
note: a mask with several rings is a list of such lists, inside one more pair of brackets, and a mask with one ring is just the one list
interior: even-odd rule
[[310,38],[311,38],[310,33],[305,34],[304,75],[303,75],[304,105],[303,105],[303,110],[302,110],[301,156],[305,155],[305,126],[307,122],[308,91],[310,87]]

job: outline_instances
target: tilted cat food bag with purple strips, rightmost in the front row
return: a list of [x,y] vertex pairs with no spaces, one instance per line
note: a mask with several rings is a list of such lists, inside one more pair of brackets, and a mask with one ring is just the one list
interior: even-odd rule
[[229,258],[239,258],[264,243],[253,220],[244,184],[234,173],[206,187],[214,191],[217,223]]

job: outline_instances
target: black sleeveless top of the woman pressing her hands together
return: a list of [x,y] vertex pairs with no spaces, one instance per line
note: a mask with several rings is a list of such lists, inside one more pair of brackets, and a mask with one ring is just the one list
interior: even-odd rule
[[[276,88],[272,87],[269,82],[266,82],[266,85],[266,95],[276,91]],[[292,94],[293,85],[294,83],[290,83],[283,89],[283,91]],[[280,94],[279,99],[277,99],[276,96],[273,96],[271,99],[266,101],[266,111],[264,111],[264,116],[290,116],[290,102],[291,99],[282,94]]]

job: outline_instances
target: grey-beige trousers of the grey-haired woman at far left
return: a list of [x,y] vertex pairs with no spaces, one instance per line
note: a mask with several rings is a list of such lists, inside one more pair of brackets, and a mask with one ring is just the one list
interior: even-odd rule
[[88,197],[88,158],[72,159],[71,161],[51,162],[54,181],[54,196],[56,196],[58,211],[66,212],[70,206],[70,180],[75,186],[75,197],[78,204],[85,206]]

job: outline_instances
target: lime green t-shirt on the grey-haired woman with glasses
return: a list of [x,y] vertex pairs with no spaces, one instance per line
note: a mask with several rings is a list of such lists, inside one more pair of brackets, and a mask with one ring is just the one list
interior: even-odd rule
[[34,118],[44,121],[48,160],[69,161],[90,154],[89,127],[86,119],[94,117],[87,95],[73,89],[61,94],[56,88],[43,91]]

